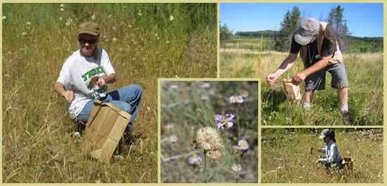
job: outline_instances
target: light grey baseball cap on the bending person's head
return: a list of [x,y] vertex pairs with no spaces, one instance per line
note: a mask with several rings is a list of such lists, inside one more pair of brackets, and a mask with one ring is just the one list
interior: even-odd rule
[[294,40],[300,45],[307,45],[319,32],[320,24],[315,18],[305,18],[294,33]]

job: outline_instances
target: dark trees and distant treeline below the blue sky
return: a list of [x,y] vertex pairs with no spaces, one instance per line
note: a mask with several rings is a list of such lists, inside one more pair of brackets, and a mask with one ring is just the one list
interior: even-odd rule
[[[344,9],[340,5],[331,8],[326,19],[319,18],[319,21],[328,22],[336,32],[338,36],[338,46],[341,51],[348,53],[367,53],[367,52],[379,52],[383,51],[383,37],[357,37],[351,36],[348,29],[347,22],[344,17]],[[256,32],[236,32],[235,36],[246,37],[260,37],[272,40],[272,47],[275,51],[287,52],[291,47],[291,39],[293,33],[296,32],[298,25],[300,24],[301,11],[298,6],[293,6],[293,9],[286,11],[284,19],[281,22],[281,27],[276,30],[265,30]],[[224,48],[229,42],[232,36],[232,32],[227,28],[227,25],[221,25],[220,30],[220,43]],[[228,37],[224,37],[225,35]]]

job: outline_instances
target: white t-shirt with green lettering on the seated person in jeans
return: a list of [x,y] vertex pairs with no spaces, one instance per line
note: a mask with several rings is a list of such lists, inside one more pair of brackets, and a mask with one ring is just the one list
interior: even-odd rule
[[61,74],[56,81],[63,84],[66,91],[74,92],[74,100],[68,103],[68,113],[72,119],[80,114],[87,102],[105,97],[108,92],[108,86],[97,91],[94,88],[87,88],[92,77],[105,77],[115,73],[108,53],[103,48],[98,50],[98,60],[85,57],[80,50],[72,53],[63,64]]

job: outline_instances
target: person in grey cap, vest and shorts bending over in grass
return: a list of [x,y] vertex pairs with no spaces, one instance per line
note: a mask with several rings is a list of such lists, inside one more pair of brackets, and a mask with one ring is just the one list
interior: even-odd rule
[[317,90],[325,89],[326,71],[331,73],[331,87],[337,89],[344,123],[350,124],[348,111],[348,79],[343,63],[343,55],[338,47],[337,35],[333,27],[315,18],[305,18],[293,34],[291,51],[276,72],[269,74],[267,83],[274,84],[288,69],[293,67],[298,52],[304,63],[304,70],[293,78],[293,84],[305,81],[305,100],[303,107],[310,108],[313,95]]

